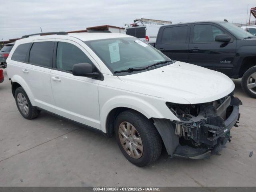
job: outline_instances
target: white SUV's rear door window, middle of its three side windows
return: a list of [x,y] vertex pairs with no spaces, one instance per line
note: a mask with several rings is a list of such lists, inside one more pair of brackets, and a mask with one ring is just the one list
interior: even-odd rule
[[52,67],[54,42],[36,42],[32,45],[29,62],[45,67]]

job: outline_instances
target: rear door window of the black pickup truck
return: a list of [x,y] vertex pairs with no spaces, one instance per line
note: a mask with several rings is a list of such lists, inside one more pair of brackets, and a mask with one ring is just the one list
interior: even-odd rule
[[188,34],[188,26],[165,28],[162,33],[162,43],[185,43]]

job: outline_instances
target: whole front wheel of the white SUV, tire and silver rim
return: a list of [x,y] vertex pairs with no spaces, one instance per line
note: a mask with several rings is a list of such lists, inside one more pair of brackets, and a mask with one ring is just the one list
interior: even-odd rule
[[115,121],[115,134],[122,153],[136,166],[146,166],[161,154],[161,136],[152,122],[138,112],[120,113]]

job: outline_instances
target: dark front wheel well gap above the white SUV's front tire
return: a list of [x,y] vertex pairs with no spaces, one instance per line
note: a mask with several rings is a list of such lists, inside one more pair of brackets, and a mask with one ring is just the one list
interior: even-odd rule
[[[131,108],[127,108],[127,107],[117,107],[117,108],[114,108],[112,109],[109,114],[108,114],[108,117],[107,117],[107,120],[106,120],[106,131],[107,131],[107,136],[111,137],[114,135],[114,122],[116,120],[116,117],[123,111],[126,111],[126,110],[133,110],[133,111],[136,111],[134,109],[131,109]],[[138,112],[138,111],[136,111]],[[140,112],[138,112],[140,113]],[[141,113],[140,113],[141,114]],[[143,115],[143,114],[142,114]],[[152,119],[151,119],[152,120]],[[153,122],[153,121],[152,121]]]

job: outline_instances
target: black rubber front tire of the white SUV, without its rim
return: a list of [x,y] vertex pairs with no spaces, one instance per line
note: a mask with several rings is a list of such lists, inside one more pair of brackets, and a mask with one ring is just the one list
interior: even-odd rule
[[[118,134],[118,128],[122,122],[129,122],[132,124],[142,140],[143,152],[140,158],[132,158],[123,148]],[[148,120],[142,114],[127,110],[120,113],[115,120],[115,135],[118,142],[118,146],[124,156],[136,166],[146,166],[155,162],[162,151],[162,138],[156,127],[150,120]]]

